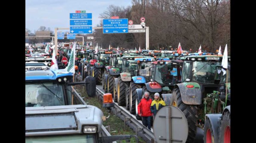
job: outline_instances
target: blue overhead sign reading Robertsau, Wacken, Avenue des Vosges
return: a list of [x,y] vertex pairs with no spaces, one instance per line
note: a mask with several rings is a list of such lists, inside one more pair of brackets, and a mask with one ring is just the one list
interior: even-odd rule
[[128,18],[103,19],[103,33],[128,33]]

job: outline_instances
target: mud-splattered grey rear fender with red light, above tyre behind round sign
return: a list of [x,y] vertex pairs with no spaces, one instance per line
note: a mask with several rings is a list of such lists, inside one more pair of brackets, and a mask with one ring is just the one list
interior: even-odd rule
[[200,85],[196,82],[183,82],[177,84],[175,88],[179,88],[182,102],[188,105],[202,104],[202,91]]

